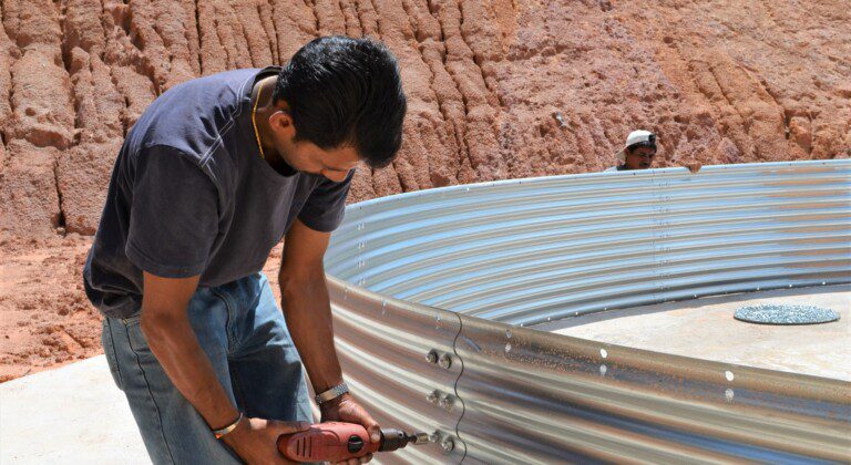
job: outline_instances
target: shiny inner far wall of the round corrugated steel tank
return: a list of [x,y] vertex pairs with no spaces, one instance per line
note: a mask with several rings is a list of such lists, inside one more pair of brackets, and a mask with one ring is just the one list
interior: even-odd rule
[[720,292],[851,279],[849,162],[605,173],[358,204],[329,273],[534,324]]

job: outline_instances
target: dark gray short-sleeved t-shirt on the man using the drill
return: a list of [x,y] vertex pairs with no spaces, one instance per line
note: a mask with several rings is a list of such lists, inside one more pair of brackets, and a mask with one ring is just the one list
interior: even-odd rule
[[187,81],[145,110],[119,153],[83,269],[101,312],[139,311],[142,270],[221,286],[262,270],[296,218],[319,231],[339,226],[353,170],[341,183],[284,176],[260,157],[252,87],[278,71]]

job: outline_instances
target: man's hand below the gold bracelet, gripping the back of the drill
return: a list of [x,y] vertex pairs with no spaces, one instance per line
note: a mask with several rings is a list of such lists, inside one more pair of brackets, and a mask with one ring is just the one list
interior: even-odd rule
[[291,464],[278,451],[278,437],[310,428],[308,422],[280,422],[245,417],[234,431],[222,436],[236,454],[246,463]]

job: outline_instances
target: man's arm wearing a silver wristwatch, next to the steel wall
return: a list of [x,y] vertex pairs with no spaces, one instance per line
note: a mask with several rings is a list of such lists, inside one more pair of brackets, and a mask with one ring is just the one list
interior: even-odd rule
[[[316,393],[342,382],[322,266],[329,239],[330,232],[316,231],[296,220],[286,237],[278,276],[287,328]],[[372,442],[380,440],[378,424],[350,395],[324,403],[321,410],[322,421],[359,423],[367,427]]]

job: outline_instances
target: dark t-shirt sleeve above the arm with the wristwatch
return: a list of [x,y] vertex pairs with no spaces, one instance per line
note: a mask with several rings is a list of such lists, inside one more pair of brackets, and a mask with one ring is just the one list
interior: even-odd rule
[[335,183],[322,177],[319,184],[307,197],[298,219],[308,228],[330,232],[337,229],[342,223],[346,214],[346,196],[349,194],[351,178],[355,176],[355,169],[349,172],[346,179]]

